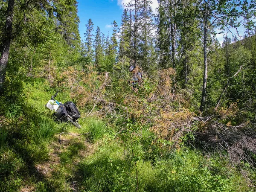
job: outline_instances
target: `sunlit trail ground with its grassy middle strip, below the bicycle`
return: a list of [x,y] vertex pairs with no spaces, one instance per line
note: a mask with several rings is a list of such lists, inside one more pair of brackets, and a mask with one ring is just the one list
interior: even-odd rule
[[[55,174],[62,170],[65,172],[65,186],[67,191],[78,192],[79,183],[74,173],[77,166],[84,158],[92,155],[98,143],[91,143],[87,137],[81,135],[79,130],[72,128],[71,131],[55,134],[54,140],[49,143],[49,160],[35,164],[37,180],[50,181],[56,179]],[[67,169],[68,168],[68,169]],[[72,170],[70,172],[70,170]],[[32,184],[32,183],[30,183]],[[27,185],[20,189],[21,192],[33,192],[35,186]]]

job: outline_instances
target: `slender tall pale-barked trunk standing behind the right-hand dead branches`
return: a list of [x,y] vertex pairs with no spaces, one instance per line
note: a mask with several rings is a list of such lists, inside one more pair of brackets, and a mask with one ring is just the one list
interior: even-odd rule
[[205,102],[206,102],[206,85],[207,85],[207,15],[204,15],[204,78],[203,78],[203,90],[202,90],[202,99],[200,105],[200,111],[204,111]]

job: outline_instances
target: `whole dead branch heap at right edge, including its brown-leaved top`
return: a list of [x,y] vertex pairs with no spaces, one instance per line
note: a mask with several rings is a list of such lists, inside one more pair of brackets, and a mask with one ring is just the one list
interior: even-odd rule
[[240,112],[236,103],[231,103],[229,108],[220,108],[217,112],[214,116],[193,118],[200,121],[200,131],[196,136],[201,147],[207,151],[226,150],[234,164],[244,161],[255,166],[252,154],[256,154],[256,125],[249,122],[232,125]]

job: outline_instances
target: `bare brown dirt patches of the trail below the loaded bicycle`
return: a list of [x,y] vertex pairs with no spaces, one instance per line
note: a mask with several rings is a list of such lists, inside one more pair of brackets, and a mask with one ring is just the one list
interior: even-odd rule
[[[72,163],[63,163],[61,162],[61,154],[67,153],[70,147],[81,145],[77,154],[72,154]],[[43,176],[43,180],[50,179],[53,177],[53,172],[56,172],[57,168],[68,166],[74,172],[77,169],[77,165],[84,158],[90,156],[96,150],[96,146],[87,141],[87,138],[83,135],[79,135],[74,132],[70,134],[56,134],[55,139],[52,143],[49,144],[49,160],[47,162],[38,163],[35,165],[36,171],[39,175]],[[67,186],[73,192],[79,191],[78,182],[76,178],[73,178],[71,174],[67,174],[69,178],[66,180]],[[34,186],[25,186],[20,190],[21,192],[34,192]]]

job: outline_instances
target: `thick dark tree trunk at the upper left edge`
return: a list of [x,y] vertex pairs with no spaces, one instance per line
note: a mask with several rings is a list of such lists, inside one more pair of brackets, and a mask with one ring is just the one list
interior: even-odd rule
[[6,67],[9,57],[10,44],[12,40],[12,20],[13,20],[13,9],[15,0],[8,1],[7,17],[6,17],[6,28],[5,37],[3,38],[1,45],[1,57],[0,57],[0,85],[3,84],[6,74]]

